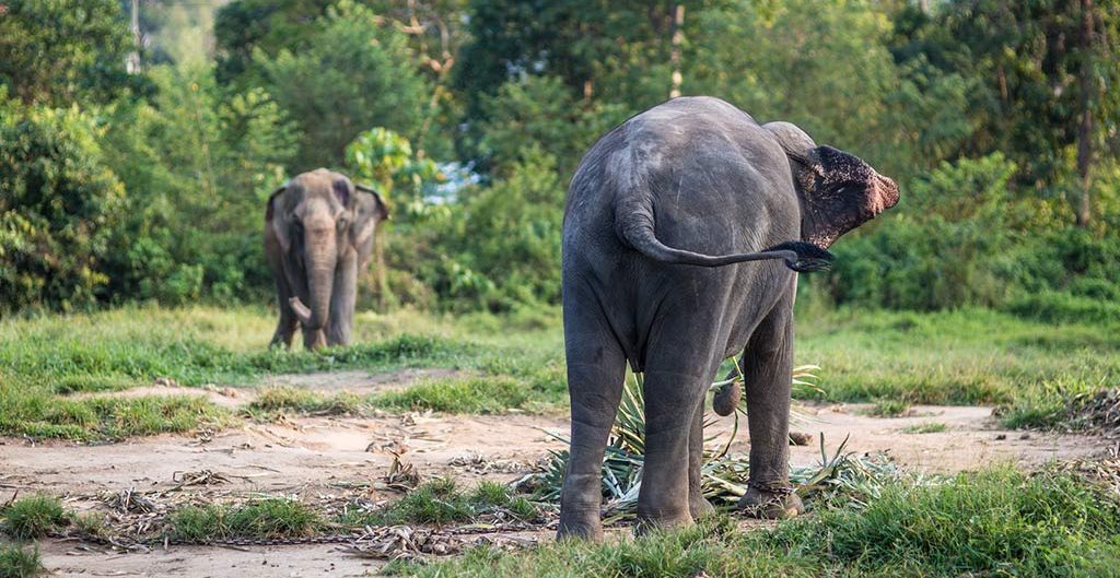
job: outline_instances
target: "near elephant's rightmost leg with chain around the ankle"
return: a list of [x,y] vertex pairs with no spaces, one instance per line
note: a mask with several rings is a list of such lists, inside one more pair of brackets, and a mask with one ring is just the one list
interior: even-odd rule
[[790,484],[790,387],[793,376],[793,307],[780,304],[752,335],[744,352],[744,387],[750,432],[750,480],[739,508],[762,518],[804,511]]

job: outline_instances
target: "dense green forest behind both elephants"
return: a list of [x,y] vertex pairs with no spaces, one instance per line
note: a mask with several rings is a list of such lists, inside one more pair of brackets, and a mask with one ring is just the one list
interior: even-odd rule
[[559,301],[581,153],[671,94],[895,178],[805,301],[1120,319],[1117,0],[0,0],[0,311],[272,299],[264,200],[393,220],[360,309]]

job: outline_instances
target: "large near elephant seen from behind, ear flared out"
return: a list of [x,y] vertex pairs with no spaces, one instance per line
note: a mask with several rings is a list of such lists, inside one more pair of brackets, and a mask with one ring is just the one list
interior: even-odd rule
[[603,136],[572,179],[563,225],[572,423],[559,536],[603,536],[601,461],[627,362],[644,372],[640,529],[711,510],[700,491],[702,405],[735,354],[753,482],[740,506],[800,512],[795,495],[754,487],[788,486],[796,288],[787,252],[763,249],[827,248],[897,201],[895,183],[864,161],[718,98],[676,98]]

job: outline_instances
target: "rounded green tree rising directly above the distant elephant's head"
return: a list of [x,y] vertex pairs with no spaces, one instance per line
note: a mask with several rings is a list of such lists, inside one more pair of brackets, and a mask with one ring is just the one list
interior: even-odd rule
[[256,53],[267,89],[300,129],[293,172],[342,164],[346,145],[370,126],[413,135],[430,86],[404,36],[348,1],[314,28],[298,53]]

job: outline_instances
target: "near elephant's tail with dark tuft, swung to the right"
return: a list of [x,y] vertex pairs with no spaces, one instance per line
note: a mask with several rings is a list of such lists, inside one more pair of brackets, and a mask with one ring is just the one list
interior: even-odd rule
[[631,200],[615,207],[615,230],[634,250],[661,263],[719,267],[748,260],[783,259],[799,273],[824,271],[831,266],[832,254],[812,243],[791,240],[757,253],[704,255],[670,247],[657,240],[653,227],[652,199]]

